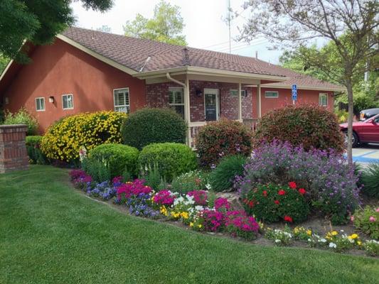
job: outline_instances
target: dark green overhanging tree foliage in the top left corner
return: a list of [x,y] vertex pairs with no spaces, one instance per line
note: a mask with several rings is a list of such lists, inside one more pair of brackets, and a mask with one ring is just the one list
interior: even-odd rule
[[[18,62],[28,62],[27,40],[34,45],[51,43],[54,36],[75,21],[70,3],[76,0],[1,0],[0,53]],[[106,11],[112,0],[80,0],[86,9]]]

